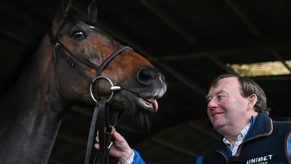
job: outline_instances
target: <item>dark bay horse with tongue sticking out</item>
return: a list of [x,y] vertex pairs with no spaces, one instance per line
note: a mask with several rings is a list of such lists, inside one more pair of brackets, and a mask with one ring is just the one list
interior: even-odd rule
[[71,0],[60,3],[51,30],[1,98],[1,164],[47,164],[73,105],[102,101],[128,115],[155,113],[166,92],[156,67],[101,29],[95,1],[85,16],[70,14],[70,7]]

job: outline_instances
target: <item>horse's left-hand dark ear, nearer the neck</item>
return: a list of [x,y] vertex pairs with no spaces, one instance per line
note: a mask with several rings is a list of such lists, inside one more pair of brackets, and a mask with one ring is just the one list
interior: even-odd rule
[[62,22],[65,17],[67,16],[69,9],[71,7],[71,0],[63,0],[62,3],[59,5],[55,16],[52,20],[52,25],[55,26],[57,24],[59,24],[60,22]]

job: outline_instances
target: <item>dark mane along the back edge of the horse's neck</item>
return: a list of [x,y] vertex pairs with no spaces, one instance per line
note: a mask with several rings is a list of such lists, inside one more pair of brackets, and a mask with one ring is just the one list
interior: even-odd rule
[[40,32],[33,36],[32,41],[25,46],[19,59],[16,61],[15,66],[12,68],[10,74],[0,81],[0,99],[3,95],[12,88],[18,81],[20,75],[24,72],[25,68],[30,64],[32,56],[41,43],[43,37],[47,32]]

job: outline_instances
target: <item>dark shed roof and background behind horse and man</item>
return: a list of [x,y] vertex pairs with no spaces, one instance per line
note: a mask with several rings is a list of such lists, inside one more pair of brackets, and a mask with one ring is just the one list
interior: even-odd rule
[[[1,81],[32,39],[49,30],[60,2],[1,1]],[[72,9],[82,14],[90,2],[73,0]],[[221,140],[204,96],[213,78],[233,72],[226,64],[280,61],[291,71],[285,62],[291,60],[290,6],[290,0],[97,0],[101,27],[145,56],[168,82],[151,131],[127,115],[116,127],[146,164],[194,164]],[[291,119],[290,74],[252,79],[266,92],[270,116]],[[83,163],[92,115],[93,109],[65,115],[49,164]]]

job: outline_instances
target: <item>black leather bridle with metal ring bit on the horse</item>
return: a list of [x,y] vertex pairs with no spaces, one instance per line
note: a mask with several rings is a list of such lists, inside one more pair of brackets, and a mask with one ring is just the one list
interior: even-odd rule
[[[117,109],[117,110],[114,109],[112,111],[112,115],[111,115],[111,118],[110,118],[110,116],[109,116],[109,106],[108,106],[107,102],[109,100],[111,100],[111,98],[113,97],[113,93],[114,92],[120,91],[123,88],[120,87],[120,86],[114,86],[113,82],[109,78],[107,78],[105,76],[100,76],[100,75],[101,75],[101,71],[114,59],[115,56],[117,56],[118,54],[120,54],[122,51],[124,51],[126,49],[130,49],[132,51],[133,51],[133,49],[131,49],[130,47],[124,46],[124,47],[116,50],[113,54],[111,54],[100,66],[94,66],[93,64],[87,63],[84,60],[75,57],[74,53],[72,53],[69,49],[67,49],[59,41],[58,35],[61,32],[61,30],[65,27],[65,24],[66,24],[66,21],[63,21],[61,23],[61,26],[58,29],[58,31],[56,32],[56,34],[53,34],[52,28],[49,31],[49,38],[50,38],[50,42],[52,44],[53,53],[54,53],[54,64],[55,64],[55,67],[56,67],[56,81],[57,81],[57,86],[58,86],[58,92],[59,92],[61,98],[63,99],[63,101],[65,102],[64,97],[63,97],[62,92],[61,92],[61,89],[60,89],[59,79],[58,79],[57,56],[59,56],[58,54],[61,54],[63,57],[65,57],[65,60],[71,66],[76,68],[77,71],[85,79],[87,79],[89,82],[91,82],[90,94],[91,94],[91,97],[96,101],[96,106],[95,106],[94,114],[93,114],[93,117],[92,117],[91,127],[90,127],[90,131],[89,131],[89,136],[88,136],[85,164],[89,164],[89,162],[90,162],[94,136],[95,136],[95,133],[96,133],[97,130],[98,130],[98,134],[99,134],[98,135],[98,137],[99,137],[99,150],[98,150],[97,155],[95,157],[94,164],[108,164],[109,150],[110,150],[111,145],[113,144],[111,142],[113,129],[114,129],[115,124],[124,115],[125,111],[124,110],[120,110],[120,109]],[[80,69],[79,66],[76,65],[76,63],[71,59],[71,57],[69,57],[65,53],[65,51],[68,54],[70,54],[71,57],[73,57],[74,59],[78,60],[82,64],[96,69],[97,70],[96,78],[94,80],[91,79],[83,70]],[[98,83],[99,83],[100,79],[106,79],[111,84],[110,91],[112,93],[111,93],[111,96],[110,96],[109,99],[101,99],[101,97],[100,97],[99,90],[98,90]],[[92,88],[93,88],[94,85],[96,85],[96,87],[97,87],[97,89],[96,89],[97,98],[94,97],[93,92],[92,92],[92,90],[93,90]]]

